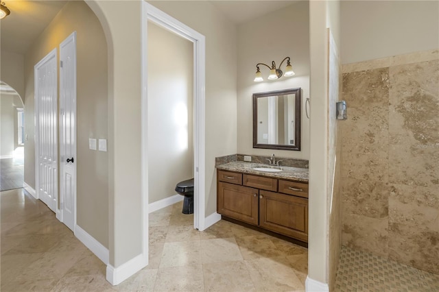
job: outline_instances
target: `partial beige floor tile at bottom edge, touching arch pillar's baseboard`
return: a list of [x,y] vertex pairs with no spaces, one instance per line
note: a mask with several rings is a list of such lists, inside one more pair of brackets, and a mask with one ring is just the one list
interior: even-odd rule
[[112,287],[117,291],[153,291],[158,269],[142,269],[135,275]]

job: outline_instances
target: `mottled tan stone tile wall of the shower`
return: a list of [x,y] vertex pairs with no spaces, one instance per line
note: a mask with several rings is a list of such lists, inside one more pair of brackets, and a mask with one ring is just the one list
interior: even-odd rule
[[342,243],[439,274],[439,51],[342,72]]

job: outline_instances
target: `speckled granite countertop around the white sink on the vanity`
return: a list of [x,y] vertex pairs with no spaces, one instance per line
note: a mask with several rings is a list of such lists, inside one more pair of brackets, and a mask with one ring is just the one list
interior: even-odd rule
[[228,162],[224,165],[217,165],[217,169],[224,171],[235,171],[241,173],[250,173],[254,175],[262,175],[267,178],[281,178],[285,180],[296,180],[298,182],[308,182],[309,169],[298,168],[298,167],[283,167],[280,168],[282,171],[278,172],[266,172],[266,171],[256,171],[254,168],[257,167],[272,167],[271,165],[264,165],[261,163],[254,162],[244,162],[244,161],[234,161]]

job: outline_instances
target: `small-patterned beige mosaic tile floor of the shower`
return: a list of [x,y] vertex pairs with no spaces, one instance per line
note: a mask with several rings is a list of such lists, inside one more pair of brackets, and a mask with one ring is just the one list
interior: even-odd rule
[[439,275],[342,247],[335,291],[439,291]]

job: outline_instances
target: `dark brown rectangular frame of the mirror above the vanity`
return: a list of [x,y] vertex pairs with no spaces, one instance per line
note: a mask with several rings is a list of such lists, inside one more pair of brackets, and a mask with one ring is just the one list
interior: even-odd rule
[[[263,149],[280,149],[280,150],[292,150],[292,151],[300,151],[300,127],[302,118],[300,116],[300,112],[302,110],[302,88],[291,88],[285,90],[275,90],[269,91],[265,93],[254,93],[253,94],[253,148],[263,148]],[[296,145],[279,145],[279,144],[258,144],[258,122],[257,122],[257,112],[258,112],[258,103],[257,100],[260,97],[270,97],[276,95],[295,95],[295,103],[294,103],[294,141],[296,141]]]

